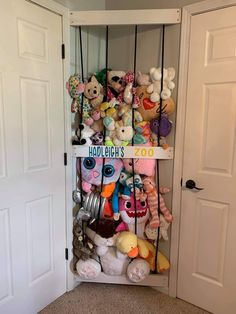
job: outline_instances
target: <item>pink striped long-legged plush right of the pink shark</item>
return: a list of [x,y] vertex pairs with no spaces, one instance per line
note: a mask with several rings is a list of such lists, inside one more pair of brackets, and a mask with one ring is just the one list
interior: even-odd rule
[[[152,177],[146,177],[143,179],[143,189],[147,194],[147,203],[151,213],[150,226],[152,228],[157,228],[160,225],[160,220],[158,216],[158,193]],[[166,207],[164,198],[161,194],[159,195],[159,198],[161,213],[163,214],[167,222],[172,222],[173,216],[171,215],[169,209]]]

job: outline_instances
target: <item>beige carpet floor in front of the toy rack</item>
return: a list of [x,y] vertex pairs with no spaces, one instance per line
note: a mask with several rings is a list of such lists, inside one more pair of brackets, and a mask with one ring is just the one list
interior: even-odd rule
[[40,314],[206,314],[150,287],[82,283]]

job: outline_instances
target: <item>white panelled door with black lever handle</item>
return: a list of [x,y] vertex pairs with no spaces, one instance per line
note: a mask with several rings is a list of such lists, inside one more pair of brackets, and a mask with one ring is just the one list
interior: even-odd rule
[[236,7],[191,20],[179,298],[236,313]]

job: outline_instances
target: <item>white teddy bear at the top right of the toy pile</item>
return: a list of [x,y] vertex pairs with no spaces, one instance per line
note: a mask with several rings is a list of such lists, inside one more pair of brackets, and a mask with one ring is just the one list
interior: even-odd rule
[[161,92],[161,68],[151,68],[150,78],[152,83],[147,87],[147,92],[150,95],[152,102],[157,102],[162,99],[168,99],[171,96],[171,92],[175,88],[173,79],[175,77],[175,69],[167,68],[163,69],[163,89]]

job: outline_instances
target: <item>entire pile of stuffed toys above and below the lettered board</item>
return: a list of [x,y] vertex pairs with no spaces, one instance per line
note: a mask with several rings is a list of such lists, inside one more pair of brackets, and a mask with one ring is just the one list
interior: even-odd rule
[[[160,68],[151,68],[148,74],[138,72],[136,78],[130,71],[102,70],[85,83],[79,75],[71,76],[67,89],[78,122],[73,145],[150,147],[160,143],[168,147],[169,115],[175,109],[171,98],[174,77],[173,68],[164,69],[163,84]],[[78,188],[82,187],[85,209],[90,211],[86,228],[82,230],[82,214],[74,227],[76,271],[81,278],[94,279],[103,271],[112,276],[126,274],[140,282],[156,264],[159,272],[169,268],[160,252],[155,260],[158,227],[159,238],[168,240],[173,220],[164,200],[169,189],[157,191],[155,166],[154,159],[77,160],[82,178]],[[95,198],[100,194],[102,205],[100,197]],[[98,207],[99,217],[92,212]]]

